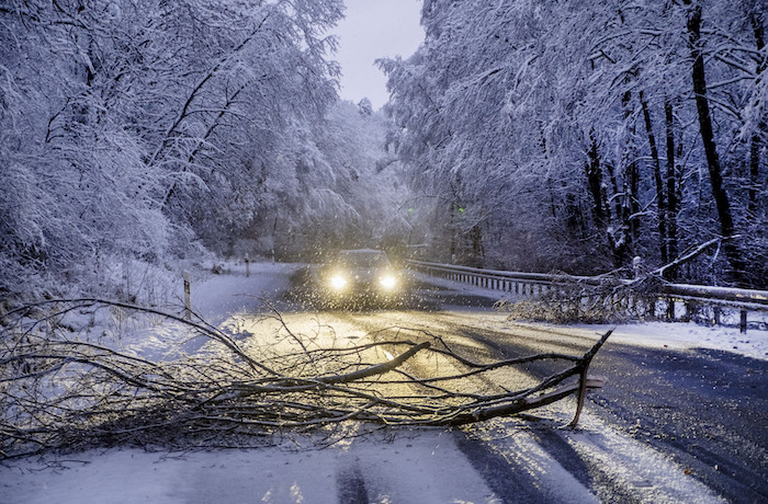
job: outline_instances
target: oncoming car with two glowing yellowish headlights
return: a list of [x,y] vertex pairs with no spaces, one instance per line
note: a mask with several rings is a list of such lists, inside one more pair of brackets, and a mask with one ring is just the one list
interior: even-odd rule
[[319,283],[324,300],[332,305],[392,305],[408,291],[405,276],[375,249],[339,251],[320,268]]

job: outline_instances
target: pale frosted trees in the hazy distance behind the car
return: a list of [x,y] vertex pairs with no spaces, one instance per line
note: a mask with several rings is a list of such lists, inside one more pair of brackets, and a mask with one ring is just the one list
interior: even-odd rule
[[282,251],[324,255],[405,241],[413,231],[405,220],[407,187],[385,145],[389,128],[381,113],[361,114],[359,106],[339,101],[312,128],[294,130],[301,141],[285,161],[295,167],[295,182],[275,215]]

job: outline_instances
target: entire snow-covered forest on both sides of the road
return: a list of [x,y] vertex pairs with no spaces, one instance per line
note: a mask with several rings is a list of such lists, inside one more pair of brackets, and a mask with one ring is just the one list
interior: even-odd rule
[[765,288],[765,8],[426,0],[374,111],[341,0],[2,0],[0,295],[406,245]]

